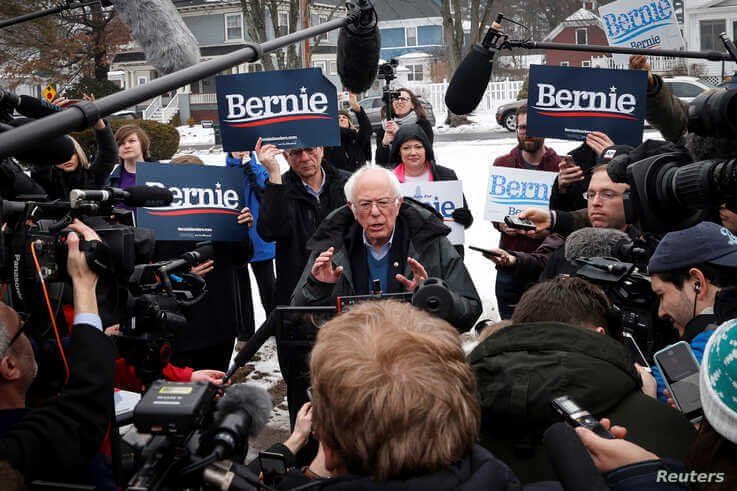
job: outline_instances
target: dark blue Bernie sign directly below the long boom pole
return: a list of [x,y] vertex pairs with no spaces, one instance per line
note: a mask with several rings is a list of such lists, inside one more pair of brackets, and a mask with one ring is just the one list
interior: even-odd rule
[[256,147],[262,138],[289,150],[340,145],[335,85],[319,68],[215,78],[223,150]]

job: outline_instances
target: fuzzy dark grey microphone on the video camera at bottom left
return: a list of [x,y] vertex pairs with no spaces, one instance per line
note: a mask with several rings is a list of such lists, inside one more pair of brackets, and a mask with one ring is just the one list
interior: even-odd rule
[[217,460],[230,457],[248,444],[266,426],[271,414],[271,396],[263,387],[235,384],[218,401],[215,426],[210,441]]

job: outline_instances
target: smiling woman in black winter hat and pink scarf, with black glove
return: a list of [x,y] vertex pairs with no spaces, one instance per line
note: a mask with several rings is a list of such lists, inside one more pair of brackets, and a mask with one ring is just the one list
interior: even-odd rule
[[[392,142],[389,163],[399,182],[457,181],[455,171],[435,163],[435,154],[427,134],[421,126],[408,124],[402,126]],[[473,223],[473,215],[468,208],[466,197],[463,207],[453,210],[453,220],[464,228]],[[464,257],[463,245],[456,245],[456,251]]]

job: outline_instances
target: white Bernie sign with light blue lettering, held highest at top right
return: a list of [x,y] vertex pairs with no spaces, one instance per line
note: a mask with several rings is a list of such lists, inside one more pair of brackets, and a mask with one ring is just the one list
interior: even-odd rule
[[[599,7],[610,46],[683,50],[686,43],[670,0],[618,0]],[[630,55],[614,54],[627,65]]]

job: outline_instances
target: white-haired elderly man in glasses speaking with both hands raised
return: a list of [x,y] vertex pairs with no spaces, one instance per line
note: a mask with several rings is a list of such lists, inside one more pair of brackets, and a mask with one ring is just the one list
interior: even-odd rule
[[331,213],[307,245],[312,254],[292,305],[334,305],[336,297],[372,292],[377,279],[382,292],[396,293],[441,278],[459,298],[456,329],[470,329],[481,301],[442,219],[403,201],[396,176],[382,167],[356,171],[345,194],[348,204]]

